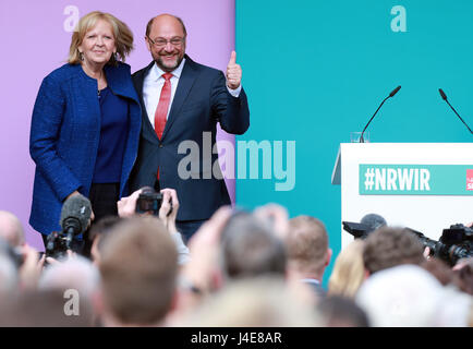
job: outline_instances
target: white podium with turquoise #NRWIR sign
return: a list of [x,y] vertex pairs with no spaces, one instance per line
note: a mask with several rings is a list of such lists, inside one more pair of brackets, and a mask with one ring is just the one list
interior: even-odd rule
[[[366,214],[438,240],[473,221],[473,143],[342,143],[332,184],[341,184],[341,220]],[[353,237],[341,229],[341,246]]]

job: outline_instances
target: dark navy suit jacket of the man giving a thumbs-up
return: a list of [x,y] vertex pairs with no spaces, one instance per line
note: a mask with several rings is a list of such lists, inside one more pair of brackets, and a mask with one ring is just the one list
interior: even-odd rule
[[[154,186],[159,166],[159,183],[162,188],[175,189],[179,198],[178,220],[202,220],[209,218],[221,205],[230,204],[225,180],[214,169],[217,154],[209,154],[216,143],[217,122],[233,134],[243,134],[250,127],[250,110],[245,92],[238,98],[230,95],[226,77],[219,70],[194,62],[185,56],[184,69],[179,80],[161,140],[149,122],[143,100],[144,79],[155,62],[133,74],[133,83],[142,103],[142,137],[138,157],[131,177],[132,191],[145,185]],[[210,135],[204,145],[203,132]],[[192,141],[198,146],[198,168],[191,169],[191,178],[178,173],[181,160],[189,158],[179,154],[179,145]],[[185,148],[185,147],[184,147]],[[206,153],[206,156],[203,155]],[[205,163],[205,164],[204,164]],[[191,166],[189,166],[191,167]]]

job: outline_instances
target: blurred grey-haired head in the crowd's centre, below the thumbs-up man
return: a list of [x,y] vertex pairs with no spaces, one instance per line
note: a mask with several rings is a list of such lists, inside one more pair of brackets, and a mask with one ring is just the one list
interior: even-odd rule
[[283,278],[287,266],[283,242],[254,215],[235,214],[221,232],[221,265],[227,279],[266,274]]

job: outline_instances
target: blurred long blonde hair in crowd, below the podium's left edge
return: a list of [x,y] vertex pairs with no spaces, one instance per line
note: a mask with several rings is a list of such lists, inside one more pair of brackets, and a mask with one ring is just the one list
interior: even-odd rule
[[339,253],[328,280],[328,294],[354,298],[366,278],[363,249],[364,240],[355,239]]

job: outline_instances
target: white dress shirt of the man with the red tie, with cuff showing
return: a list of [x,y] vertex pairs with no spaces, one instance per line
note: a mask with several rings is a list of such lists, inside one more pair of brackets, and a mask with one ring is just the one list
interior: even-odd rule
[[[171,72],[171,99],[169,101],[166,120],[168,120],[169,118],[169,111],[171,110],[172,100],[174,100],[175,89],[178,88],[179,79],[181,77],[182,70],[184,69],[184,63],[185,58],[182,59],[181,64],[179,64],[179,67]],[[156,108],[158,107],[159,98],[161,96],[161,89],[166,82],[165,77],[162,77],[162,74],[165,73],[166,72],[162,71],[155,62],[143,83],[143,101],[145,103],[146,112],[148,115],[148,119],[153,125],[153,129],[155,128]],[[227,89],[233,97],[238,97],[240,96],[242,85],[240,84],[237,89],[231,89],[227,86]]]

